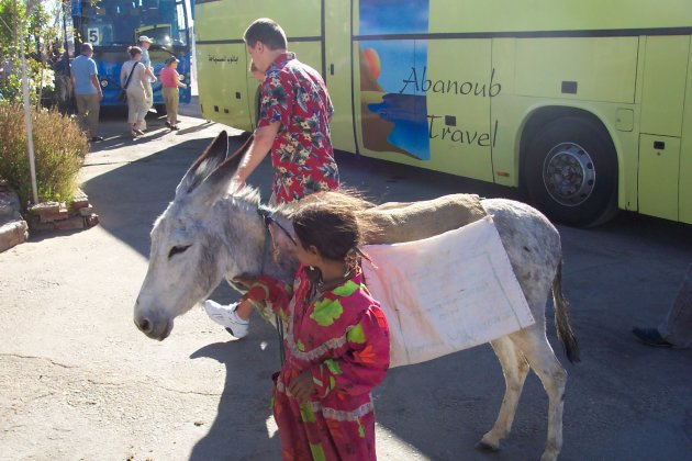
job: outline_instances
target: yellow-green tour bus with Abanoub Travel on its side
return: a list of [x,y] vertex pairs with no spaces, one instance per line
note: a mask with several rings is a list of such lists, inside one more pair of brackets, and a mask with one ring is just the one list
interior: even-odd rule
[[523,188],[572,225],[692,223],[690,0],[198,0],[207,119],[254,128],[263,16],[325,78],[337,149]]

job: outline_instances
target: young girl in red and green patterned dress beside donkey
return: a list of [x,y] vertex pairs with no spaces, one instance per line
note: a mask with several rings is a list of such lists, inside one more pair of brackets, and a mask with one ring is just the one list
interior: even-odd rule
[[[274,416],[284,460],[375,460],[370,391],[389,368],[389,329],[358,263],[365,202],[313,195],[292,216],[301,261],[292,286],[260,276],[238,306],[272,303],[287,326]],[[322,200],[336,196],[336,202]],[[369,231],[368,231],[369,232]]]

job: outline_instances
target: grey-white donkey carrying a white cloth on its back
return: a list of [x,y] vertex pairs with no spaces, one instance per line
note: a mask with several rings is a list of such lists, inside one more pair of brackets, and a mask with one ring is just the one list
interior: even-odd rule
[[[282,232],[272,232],[274,257],[265,258],[268,231],[265,218],[258,213],[259,193],[232,180],[249,140],[228,156],[228,137],[222,132],[192,164],[178,184],[174,201],[156,220],[148,271],[134,306],[134,322],[149,338],[163,340],[168,337],[175,317],[204,300],[224,278],[231,281],[239,274],[257,274],[264,270],[276,278],[292,280],[298,259],[290,237]],[[448,196],[449,200],[454,201],[454,195]],[[502,366],[505,394],[494,426],[483,435],[477,448],[499,449],[500,440],[510,432],[524,381],[528,370],[533,369],[549,402],[548,434],[542,460],[555,460],[562,446],[567,372],[546,337],[545,310],[550,291],[558,337],[568,359],[579,361],[561,289],[560,237],[548,220],[528,205],[504,199],[483,200],[481,204],[488,214],[493,215],[536,323],[491,341]],[[402,210],[402,206],[384,204],[379,212]],[[292,231],[287,217],[290,206],[271,211],[277,223],[287,232]],[[412,227],[409,235],[415,235],[416,239],[458,227],[454,220],[440,220],[437,214],[434,218],[432,213],[420,217],[405,224]],[[398,235],[397,241],[406,240],[406,233],[401,228],[391,231]],[[387,235],[387,228],[383,234]]]

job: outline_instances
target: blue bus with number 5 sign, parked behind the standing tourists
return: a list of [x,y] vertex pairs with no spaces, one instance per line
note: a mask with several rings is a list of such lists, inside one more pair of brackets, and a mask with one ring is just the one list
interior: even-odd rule
[[[164,67],[169,56],[176,56],[178,72],[185,76],[188,88],[180,89],[180,101],[190,102],[191,11],[189,0],[72,0],[72,24],[76,30],[76,53],[79,44],[93,45],[99,81],[103,90],[101,105],[122,105],[120,69],[130,59],[127,47],[137,45],[141,35],[152,38],[149,57],[154,75]],[[164,112],[160,80],[152,83],[154,108]]]

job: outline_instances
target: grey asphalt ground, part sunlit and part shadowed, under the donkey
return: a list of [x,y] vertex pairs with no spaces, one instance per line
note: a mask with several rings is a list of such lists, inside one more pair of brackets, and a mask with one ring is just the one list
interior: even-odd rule
[[[197,306],[157,342],[132,322],[152,223],[192,160],[227,127],[185,116],[182,130],[169,133],[152,114],[149,134],[133,142],[123,119],[103,115],[107,139],[81,171],[101,224],[33,234],[0,254],[0,460],[279,459],[270,326],[257,321],[236,341]],[[346,154],[337,161],[345,182],[377,201],[518,196]],[[252,178],[264,196],[270,175],[265,162]],[[569,372],[561,459],[692,460],[692,351],[648,348],[630,334],[666,314],[692,262],[692,226],[625,213],[594,229],[558,228],[582,351],[581,363],[567,362],[550,318],[549,338]],[[235,294],[220,286],[213,297]],[[375,392],[379,458],[538,459],[547,397],[533,373],[502,450],[473,449],[503,390],[489,346],[391,370]]]

